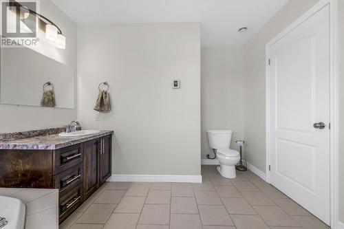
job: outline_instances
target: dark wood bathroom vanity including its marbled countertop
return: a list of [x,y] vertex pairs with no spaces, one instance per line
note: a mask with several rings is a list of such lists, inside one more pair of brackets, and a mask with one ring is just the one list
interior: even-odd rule
[[61,223],[111,176],[112,134],[0,140],[0,187],[58,189]]

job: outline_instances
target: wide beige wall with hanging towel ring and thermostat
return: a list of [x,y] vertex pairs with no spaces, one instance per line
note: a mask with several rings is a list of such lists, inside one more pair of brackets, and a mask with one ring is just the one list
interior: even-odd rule
[[78,120],[115,131],[113,173],[200,175],[200,51],[200,23],[78,26]]

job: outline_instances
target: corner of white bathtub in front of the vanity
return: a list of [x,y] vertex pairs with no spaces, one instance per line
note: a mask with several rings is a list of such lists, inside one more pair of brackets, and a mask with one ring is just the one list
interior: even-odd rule
[[8,221],[1,229],[23,229],[25,204],[20,199],[0,196],[0,217],[5,217]]

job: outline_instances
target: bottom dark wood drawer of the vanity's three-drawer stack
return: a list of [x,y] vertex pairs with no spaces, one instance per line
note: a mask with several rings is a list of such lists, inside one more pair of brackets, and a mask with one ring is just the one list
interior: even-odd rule
[[72,188],[58,200],[60,223],[65,220],[83,202],[83,185]]

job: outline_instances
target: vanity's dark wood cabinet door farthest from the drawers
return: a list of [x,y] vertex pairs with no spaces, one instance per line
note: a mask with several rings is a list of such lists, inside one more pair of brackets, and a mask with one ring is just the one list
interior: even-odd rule
[[100,184],[106,182],[107,178],[111,176],[111,136],[112,135],[107,135],[103,138],[100,138]]

